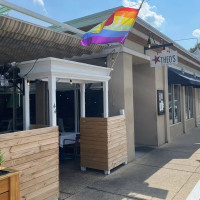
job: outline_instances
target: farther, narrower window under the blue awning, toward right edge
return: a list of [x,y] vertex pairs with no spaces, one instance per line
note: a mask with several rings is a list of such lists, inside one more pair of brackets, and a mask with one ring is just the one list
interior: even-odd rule
[[186,119],[194,117],[194,98],[193,87],[185,87],[185,110]]

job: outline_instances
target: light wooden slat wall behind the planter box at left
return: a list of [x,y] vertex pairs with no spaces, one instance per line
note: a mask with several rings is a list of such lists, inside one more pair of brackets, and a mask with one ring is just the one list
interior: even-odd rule
[[21,171],[21,200],[59,197],[58,127],[0,135],[5,167]]

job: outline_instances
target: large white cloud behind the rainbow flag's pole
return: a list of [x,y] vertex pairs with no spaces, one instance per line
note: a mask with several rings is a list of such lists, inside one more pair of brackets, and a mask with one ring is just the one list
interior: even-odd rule
[[[141,0],[138,0],[137,2],[123,0],[124,7],[139,8],[141,3],[142,3]],[[154,27],[160,27],[164,23],[165,18],[162,15],[157,14],[155,12],[155,9],[156,9],[156,6],[150,6],[147,2],[144,2],[139,12],[139,17]]]

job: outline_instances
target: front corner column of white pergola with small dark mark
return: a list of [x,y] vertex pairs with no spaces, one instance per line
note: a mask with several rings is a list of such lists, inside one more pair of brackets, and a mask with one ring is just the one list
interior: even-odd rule
[[50,126],[57,125],[56,116],[56,77],[48,77],[48,88],[49,88],[49,123]]

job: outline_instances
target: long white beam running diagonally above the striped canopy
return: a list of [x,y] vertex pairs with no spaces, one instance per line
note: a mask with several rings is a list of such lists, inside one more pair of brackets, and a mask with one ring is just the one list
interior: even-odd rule
[[41,21],[47,22],[49,24],[56,25],[56,26],[59,26],[61,28],[65,28],[66,30],[71,31],[73,33],[77,33],[77,34],[81,34],[81,35],[83,35],[85,33],[84,31],[81,31],[81,30],[79,30],[79,29],[77,29],[75,27],[72,27],[72,26],[68,25],[68,24],[64,24],[64,23],[58,22],[58,21],[56,21],[54,19],[51,19],[51,18],[46,17],[44,15],[41,15],[39,13],[33,12],[31,10],[28,10],[28,9],[23,8],[21,6],[18,6],[16,4],[7,2],[5,0],[0,0],[0,5],[5,6],[7,8],[10,8],[12,10],[15,10],[17,12],[23,13],[25,15],[34,17],[34,18],[39,19]]

